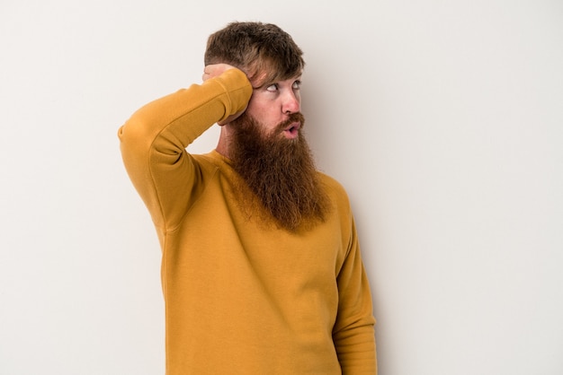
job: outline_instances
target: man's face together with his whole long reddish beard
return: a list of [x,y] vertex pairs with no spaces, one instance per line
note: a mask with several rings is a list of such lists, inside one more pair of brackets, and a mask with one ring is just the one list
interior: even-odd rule
[[[324,221],[329,207],[299,109],[299,79],[282,81],[255,89],[246,112],[229,125],[229,159],[243,181],[242,206],[250,216],[265,213],[258,214],[261,222],[273,219],[290,231]],[[248,188],[254,195],[245,193]]]

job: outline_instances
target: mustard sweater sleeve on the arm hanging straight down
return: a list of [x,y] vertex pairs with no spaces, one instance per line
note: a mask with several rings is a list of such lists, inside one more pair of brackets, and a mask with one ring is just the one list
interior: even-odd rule
[[375,375],[377,356],[371,291],[353,218],[351,225],[348,254],[337,276],[339,304],[333,340],[344,375]]

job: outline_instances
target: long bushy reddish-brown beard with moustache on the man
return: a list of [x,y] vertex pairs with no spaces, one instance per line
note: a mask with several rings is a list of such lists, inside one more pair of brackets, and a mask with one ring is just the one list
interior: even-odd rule
[[238,189],[246,212],[255,214],[248,209],[254,211],[252,201],[257,199],[260,220],[269,216],[289,231],[323,222],[329,207],[305,137],[300,130],[295,139],[282,135],[283,129],[296,121],[303,126],[305,119],[294,113],[269,135],[246,113],[230,125],[234,133],[229,144],[233,168],[255,196],[248,200],[244,189]]

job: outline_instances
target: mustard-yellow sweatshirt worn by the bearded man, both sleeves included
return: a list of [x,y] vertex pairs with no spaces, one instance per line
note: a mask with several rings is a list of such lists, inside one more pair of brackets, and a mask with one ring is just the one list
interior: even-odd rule
[[123,161],[162,247],[166,374],[375,374],[371,292],[344,189],[309,231],[267,229],[232,199],[228,159],[185,148],[244,109],[229,70],[139,109],[121,126]]

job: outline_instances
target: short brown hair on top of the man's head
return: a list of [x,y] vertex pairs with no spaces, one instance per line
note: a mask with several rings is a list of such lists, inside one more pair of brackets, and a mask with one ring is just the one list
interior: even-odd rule
[[305,67],[303,52],[290,34],[263,22],[231,22],[211,34],[204,62],[236,66],[260,85],[290,79]]

